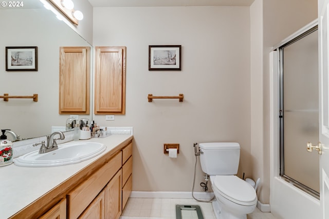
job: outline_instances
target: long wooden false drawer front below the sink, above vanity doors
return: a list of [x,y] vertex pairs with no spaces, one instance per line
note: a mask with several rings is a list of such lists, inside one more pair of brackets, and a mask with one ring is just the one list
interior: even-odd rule
[[88,177],[67,195],[68,218],[77,218],[94,200],[109,180],[121,168],[122,153],[115,155],[108,163]]

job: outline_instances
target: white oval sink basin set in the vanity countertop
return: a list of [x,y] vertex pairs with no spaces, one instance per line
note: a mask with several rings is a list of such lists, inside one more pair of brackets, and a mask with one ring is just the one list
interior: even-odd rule
[[14,159],[14,164],[21,167],[54,167],[76,164],[89,160],[103,151],[106,146],[96,142],[65,143],[57,150],[39,153],[39,150],[27,153]]

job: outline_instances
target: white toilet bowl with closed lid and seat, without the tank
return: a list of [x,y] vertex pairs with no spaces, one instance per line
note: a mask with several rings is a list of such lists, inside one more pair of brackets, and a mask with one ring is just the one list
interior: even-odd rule
[[246,219],[257,206],[257,195],[250,184],[235,175],[211,175],[217,219]]

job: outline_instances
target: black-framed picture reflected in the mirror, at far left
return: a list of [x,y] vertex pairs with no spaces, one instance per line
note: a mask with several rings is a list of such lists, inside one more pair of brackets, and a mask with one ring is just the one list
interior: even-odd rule
[[38,47],[6,47],[6,71],[38,71]]

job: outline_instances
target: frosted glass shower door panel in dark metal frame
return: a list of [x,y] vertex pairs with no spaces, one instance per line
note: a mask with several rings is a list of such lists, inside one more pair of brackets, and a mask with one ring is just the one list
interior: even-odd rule
[[318,31],[312,29],[280,48],[281,176],[319,196],[319,156],[306,143],[319,141]]

